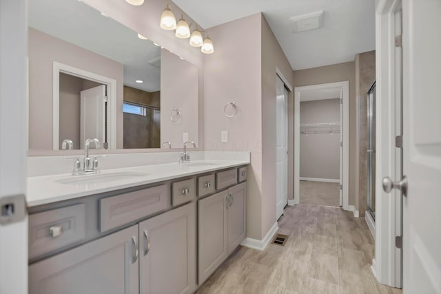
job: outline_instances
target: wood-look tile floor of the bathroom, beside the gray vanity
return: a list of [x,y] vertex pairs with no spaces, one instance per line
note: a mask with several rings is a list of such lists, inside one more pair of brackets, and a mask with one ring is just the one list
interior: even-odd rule
[[285,246],[239,247],[196,293],[402,293],[370,269],[374,240],[364,218],[337,207],[287,207],[278,233]]

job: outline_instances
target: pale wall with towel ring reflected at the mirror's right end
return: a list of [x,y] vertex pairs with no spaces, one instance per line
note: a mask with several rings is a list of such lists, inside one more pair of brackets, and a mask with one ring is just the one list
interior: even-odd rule
[[[172,143],[183,147],[183,133],[199,146],[198,67],[181,60],[168,50],[161,50],[161,145]],[[181,116],[172,121],[173,109],[181,109]]]

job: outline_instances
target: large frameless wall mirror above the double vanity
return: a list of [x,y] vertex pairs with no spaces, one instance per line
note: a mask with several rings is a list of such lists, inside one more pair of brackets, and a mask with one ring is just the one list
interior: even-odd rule
[[29,1],[28,25],[31,151],[198,145],[196,65],[83,1]]

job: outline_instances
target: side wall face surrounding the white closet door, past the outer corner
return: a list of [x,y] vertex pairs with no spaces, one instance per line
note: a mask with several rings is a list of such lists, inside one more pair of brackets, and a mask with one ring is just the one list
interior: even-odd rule
[[[291,83],[293,71],[282,48],[265,17],[262,15],[262,235],[276,222],[276,69]],[[292,85],[290,85],[292,86]],[[293,101],[292,92],[288,101]],[[292,145],[292,146],[291,146]],[[294,142],[288,142],[288,149]],[[289,178],[294,177],[294,170],[289,169]],[[288,180],[288,193],[292,195],[292,180]],[[292,198],[292,197],[291,197]]]

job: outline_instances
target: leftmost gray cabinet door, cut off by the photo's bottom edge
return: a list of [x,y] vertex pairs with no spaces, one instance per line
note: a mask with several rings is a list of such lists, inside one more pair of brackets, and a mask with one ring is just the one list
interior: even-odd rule
[[138,225],[29,266],[30,294],[139,293]]

